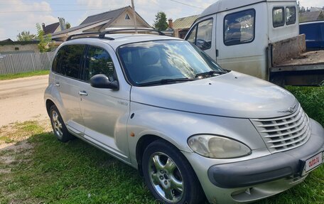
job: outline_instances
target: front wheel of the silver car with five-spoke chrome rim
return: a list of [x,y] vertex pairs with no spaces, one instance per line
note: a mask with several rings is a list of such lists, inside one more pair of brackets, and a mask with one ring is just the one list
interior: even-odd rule
[[166,141],[149,144],[143,154],[146,186],[160,203],[202,203],[202,191],[193,168],[185,156]]

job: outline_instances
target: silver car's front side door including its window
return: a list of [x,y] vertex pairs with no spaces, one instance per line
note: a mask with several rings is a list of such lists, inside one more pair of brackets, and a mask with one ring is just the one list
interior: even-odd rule
[[107,48],[94,45],[87,48],[84,83],[80,87],[80,92],[83,92],[80,105],[85,122],[85,139],[119,159],[129,161],[126,122],[129,117],[130,86],[119,82],[119,90],[110,90],[90,85],[90,78],[97,74],[106,75],[110,81],[118,80],[115,70],[118,60],[112,48],[112,54]]

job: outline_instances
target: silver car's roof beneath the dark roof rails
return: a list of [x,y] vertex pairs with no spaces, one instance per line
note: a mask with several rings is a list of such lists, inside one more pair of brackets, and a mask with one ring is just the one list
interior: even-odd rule
[[[152,34],[107,34],[106,38],[75,38],[70,41],[63,43],[62,45],[72,45],[72,44],[88,44],[91,42],[101,41],[103,43],[107,43],[114,50],[116,50],[120,45],[125,45],[129,43],[139,43],[145,41],[183,41],[180,38],[173,38],[170,36],[158,36]],[[109,40],[109,38],[113,38],[114,40]]]

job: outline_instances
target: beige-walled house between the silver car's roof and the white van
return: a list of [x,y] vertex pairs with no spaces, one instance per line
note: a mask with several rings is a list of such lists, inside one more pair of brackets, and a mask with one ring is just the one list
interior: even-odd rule
[[[188,33],[190,26],[193,25],[193,22],[198,18],[199,15],[196,16],[188,16],[184,18],[176,19],[173,24],[174,36],[177,38],[185,38],[185,35]],[[169,22],[170,25],[170,22]]]

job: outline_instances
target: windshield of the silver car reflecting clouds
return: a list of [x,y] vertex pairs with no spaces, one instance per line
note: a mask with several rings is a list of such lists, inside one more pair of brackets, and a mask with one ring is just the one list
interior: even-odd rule
[[132,43],[122,45],[118,54],[129,81],[135,86],[185,82],[226,73],[187,41]]

